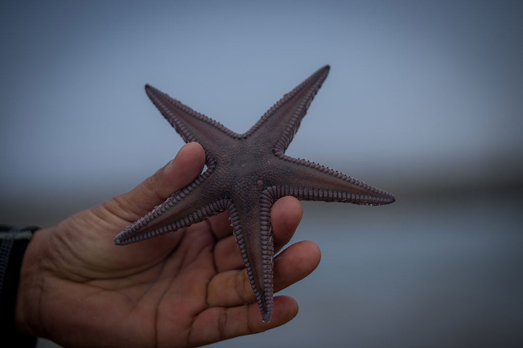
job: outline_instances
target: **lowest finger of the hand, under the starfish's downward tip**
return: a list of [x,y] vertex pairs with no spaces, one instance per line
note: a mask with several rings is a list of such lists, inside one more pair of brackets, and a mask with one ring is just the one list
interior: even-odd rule
[[212,307],[200,313],[192,323],[190,345],[203,345],[263,332],[290,321],[298,314],[298,303],[289,296],[274,298],[274,311],[270,322],[261,321],[258,305],[255,303],[232,307]]

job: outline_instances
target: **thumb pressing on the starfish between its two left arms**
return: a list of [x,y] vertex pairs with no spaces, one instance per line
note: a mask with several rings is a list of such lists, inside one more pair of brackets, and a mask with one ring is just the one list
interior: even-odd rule
[[180,149],[174,160],[155,174],[103,206],[122,219],[130,222],[138,220],[177,190],[190,184],[201,173],[204,163],[203,148],[197,142],[190,142]]

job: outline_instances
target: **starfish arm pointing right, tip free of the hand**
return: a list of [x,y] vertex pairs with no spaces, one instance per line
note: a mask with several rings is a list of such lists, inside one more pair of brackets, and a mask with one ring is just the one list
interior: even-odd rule
[[300,200],[349,202],[359,205],[380,206],[393,203],[396,196],[367,185],[353,177],[321,164],[280,154],[281,179],[267,188],[274,199],[294,196]]

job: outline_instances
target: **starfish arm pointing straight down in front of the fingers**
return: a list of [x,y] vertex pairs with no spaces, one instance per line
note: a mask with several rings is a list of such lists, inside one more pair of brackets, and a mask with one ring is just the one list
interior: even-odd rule
[[244,202],[229,209],[236,244],[245,263],[247,276],[260,308],[261,318],[269,322],[272,315],[274,286],[272,281],[272,258],[274,241],[270,224],[272,201],[260,197],[259,210],[245,211]]

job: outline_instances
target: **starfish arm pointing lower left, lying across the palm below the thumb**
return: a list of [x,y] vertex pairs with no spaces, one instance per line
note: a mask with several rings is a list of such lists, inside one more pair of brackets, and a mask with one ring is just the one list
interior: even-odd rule
[[226,210],[230,202],[228,198],[208,195],[209,182],[203,181],[208,176],[206,174],[208,172],[201,174],[144,217],[127,226],[115,237],[114,243],[127,245],[140,242],[177,231]]

